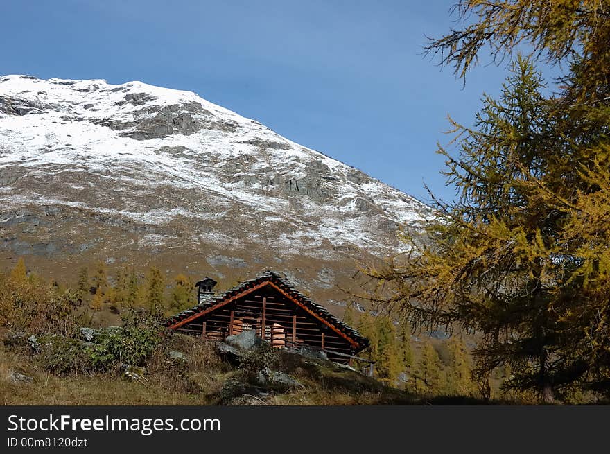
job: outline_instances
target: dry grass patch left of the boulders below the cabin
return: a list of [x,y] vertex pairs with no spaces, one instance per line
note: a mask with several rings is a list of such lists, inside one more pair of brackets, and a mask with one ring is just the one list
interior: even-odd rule
[[[228,367],[205,342],[171,340],[186,351],[184,367],[175,368],[162,354],[149,365],[148,383],[120,376],[93,374],[58,377],[45,372],[32,356],[7,351],[0,344],[0,404],[2,405],[209,405]],[[180,345],[180,342],[182,344]],[[188,350],[187,350],[188,348]],[[14,383],[11,370],[33,378]],[[210,396],[211,395],[211,396]]]

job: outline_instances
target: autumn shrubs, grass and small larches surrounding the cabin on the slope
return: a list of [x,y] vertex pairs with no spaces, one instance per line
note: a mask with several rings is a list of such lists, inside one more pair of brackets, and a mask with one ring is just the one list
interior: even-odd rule
[[[164,314],[192,303],[191,293],[186,292],[190,283],[186,287],[182,279],[175,279],[166,288],[158,284],[164,278],[155,270],[144,281],[109,279],[99,266],[92,274],[81,270],[76,289],[65,288],[27,272],[24,261],[19,261],[0,277],[1,403],[478,402],[469,355],[457,338],[433,343],[397,328],[390,317],[374,317],[350,306],[346,322],[372,340],[362,356],[376,361],[373,378],[323,358],[264,345],[235,360],[221,354],[214,342],[160,326]],[[132,295],[139,295],[136,299],[121,293],[125,281],[132,283]],[[288,385],[261,380],[260,371],[288,376]]]

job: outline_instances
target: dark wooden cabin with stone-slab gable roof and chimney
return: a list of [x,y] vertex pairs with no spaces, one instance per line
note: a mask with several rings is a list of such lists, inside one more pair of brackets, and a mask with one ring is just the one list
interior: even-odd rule
[[199,281],[198,302],[170,317],[165,325],[182,333],[223,340],[247,330],[274,347],[307,346],[337,363],[365,349],[369,340],[299,293],[277,272],[267,271],[225,293],[214,295],[216,281]]

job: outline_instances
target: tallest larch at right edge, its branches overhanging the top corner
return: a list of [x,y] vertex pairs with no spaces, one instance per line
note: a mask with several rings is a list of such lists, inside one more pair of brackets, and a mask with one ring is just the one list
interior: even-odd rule
[[[459,76],[465,78],[467,70],[478,63],[482,49],[491,49],[491,55],[501,60],[510,57],[522,43],[532,49],[532,58],[561,63],[564,71],[557,79],[557,94],[538,102],[537,109],[532,109],[527,91],[523,94],[516,91],[512,96],[514,102],[505,105],[514,107],[516,112],[523,114],[523,119],[531,122],[529,134],[524,134],[528,128],[523,128],[523,122],[519,127],[517,116],[504,125],[496,121],[500,127],[508,126],[499,128],[504,148],[516,150],[513,154],[520,157],[506,161],[508,168],[521,173],[516,182],[497,178],[494,173],[488,175],[478,166],[462,166],[464,159],[448,157],[450,181],[455,178],[456,170],[457,173],[471,173],[470,186],[462,186],[464,191],[477,184],[487,187],[496,184],[498,188],[503,187],[507,195],[516,197],[512,200],[516,205],[521,204],[530,214],[537,212],[540,222],[538,231],[531,226],[519,231],[514,222],[502,219],[501,214],[490,216],[485,210],[480,211],[482,222],[487,220],[496,225],[494,232],[486,232],[488,238],[493,241],[498,236],[512,236],[512,244],[506,242],[504,250],[492,246],[487,254],[479,251],[478,261],[471,262],[478,266],[462,270],[470,272],[478,268],[478,276],[486,277],[483,268],[493,254],[496,258],[512,255],[512,261],[496,267],[496,278],[503,272],[510,277],[512,263],[516,263],[517,267],[528,270],[518,286],[528,281],[530,293],[529,297],[523,295],[525,307],[521,309],[516,306],[503,308],[502,298],[491,301],[497,320],[504,319],[501,324],[509,326],[509,335],[516,335],[516,340],[508,344],[489,335],[483,354],[478,356],[476,370],[484,376],[494,362],[499,364],[512,358],[509,364],[512,375],[506,388],[516,392],[537,392],[546,402],[554,401],[557,395],[573,395],[575,386],[591,387],[610,395],[607,367],[610,364],[610,337],[607,335],[610,330],[607,304],[609,3],[464,0],[458,3],[454,12],[460,19],[469,20],[462,21],[462,26],[448,35],[432,40],[427,50],[438,53],[441,63],[453,66]],[[525,112],[534,115],[528,116]],[[500,114],[498,119],[505,120],[505,115]],[[458,130],[465,131],[464,128]],[[474,150],[487,148],[486,137],[470,132],[466,135]],[[473,193],[471,191],[471,195]],[[467,215],[473,215],[479,208],[478,200],[471,198],[469,202],[463,211],[467,221],[463,222],[464,228],[471,227],[468,225],[471,218]],[[455,206],[440,208],[452,215],[458,213]],[[496,208],[497,213],[502,212],[501,203]],[[536,219],[530,218],[530,221]],[[472,234],[481,235],[482,232],[473,229]],[[479,294],[489,288],[489,283],[481,282],[484,279],[477,279],[472,273],[469,277],[470,288],[476,286]],[[496,289],[514,293],[514,279],[495,281]],[[489,296],[479,299],[478,304],[489,304]],[[537,308],[534,311],[537,316],[532,317],[534,320],[527,326],[519,326],[518,320],[509,321],[514,311],[527,311],[528,305]],[[439,312],[448,315],[447,311]],[[455,315],[454,318],[464,321],[466,317]],[[521,353],[525,356],[519,358]],[[534,356],[537,356],[535,360]]]

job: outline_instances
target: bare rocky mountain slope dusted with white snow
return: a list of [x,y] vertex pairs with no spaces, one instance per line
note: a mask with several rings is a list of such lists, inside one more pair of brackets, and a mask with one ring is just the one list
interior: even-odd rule
[[397,225],[417,227],[428,213],[189,91],[0,77],[5,260],[143,254],[180,257],[193,272],[274,268],[291,256],[345,261],[396,250]]

